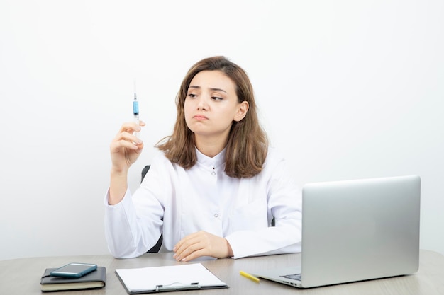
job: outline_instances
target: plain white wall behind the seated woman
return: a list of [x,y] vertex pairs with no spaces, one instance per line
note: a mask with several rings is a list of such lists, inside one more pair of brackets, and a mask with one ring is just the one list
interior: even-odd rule
[[248,71],[301,185],[416,174],[421,248],[444,253],[444,2],[0,2],[0,260],[108,253],[109,142],[170,134],[189,66]]

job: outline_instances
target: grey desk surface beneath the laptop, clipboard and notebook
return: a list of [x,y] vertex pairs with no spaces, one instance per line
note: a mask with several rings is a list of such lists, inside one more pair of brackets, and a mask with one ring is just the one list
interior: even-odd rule
[[[416,274],[389,279],[340,284],[312,289],[296,289],[275,282],[261,279],[260,283],[240,276],[239,271],[252,272],[260,267],[282,267],[300,262],[301,255],[271,255],[256,258],[240,258],[238,260],[196,260],[201,262],[213,274],[216,274],[228,289],[181,291],[174,294],[212,295],[212,294],[387,294],[387,295],[443,295],[444,294],[444,256],[429,250],[421,250],[420,267]],[[40,292],[40,276],[47,267],[57,267],[69,262],[91,262],[106,267],[106,287],[89,291],[66,291],[52,293],[54,295],[116,295],[126,294],[114,270],[116,268],[148,267],[160,265],[179,265],[172,253],[147,253],[139,258],[115,259],[111,255],[63,256],[47,258],[18,258],[0,261],[0,294],[1,295],[32,295]],[[192,263],[192,262],[189,262]],[[50,294],[50,293],[46,293]],[[173,294],[173,293],[167,293]]]

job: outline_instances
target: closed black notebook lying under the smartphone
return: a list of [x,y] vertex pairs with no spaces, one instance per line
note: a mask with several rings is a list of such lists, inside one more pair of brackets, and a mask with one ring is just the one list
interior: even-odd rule
[[85,274],[77,279],[65,277],[52,277],[50,272],[56,268],[47,268],[40,279],[40,288],[44,292],[49,291],[68,291],[84,289],[100,289],[105,287],[106,268],[97,267],[97,270]]

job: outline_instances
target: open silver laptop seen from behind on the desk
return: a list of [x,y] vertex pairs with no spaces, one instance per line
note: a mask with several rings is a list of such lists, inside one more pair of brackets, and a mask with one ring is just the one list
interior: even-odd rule
[[299,288],[413,274],[420,195],[418,176],[304,185],[301,265],[252,273]]

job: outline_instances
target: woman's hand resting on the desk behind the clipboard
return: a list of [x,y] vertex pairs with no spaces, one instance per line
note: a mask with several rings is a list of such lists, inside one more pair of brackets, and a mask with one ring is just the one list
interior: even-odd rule
[[201,256],[228,258],[233,256],[230,243],[226,238],[214,236],[206,231],[192,233],[179,241],[174,248],[174,258],[177,261],[189,261]]

